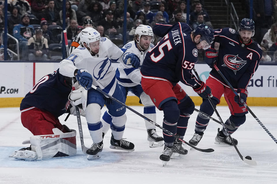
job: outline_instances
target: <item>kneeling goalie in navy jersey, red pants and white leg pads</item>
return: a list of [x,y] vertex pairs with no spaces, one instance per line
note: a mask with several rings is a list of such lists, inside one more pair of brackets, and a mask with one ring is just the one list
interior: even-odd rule
[[58,69],[41,78],[23,98],[21,122],[34,136],[23,142],[31,143],[30,147],[10,157],[31,161],[76,155],[76,131],[61,125],[58,119],[70,105],[71,79]]

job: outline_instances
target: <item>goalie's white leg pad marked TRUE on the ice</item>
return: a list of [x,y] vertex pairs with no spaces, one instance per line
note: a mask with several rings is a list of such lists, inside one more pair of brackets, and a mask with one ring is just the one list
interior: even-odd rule
[[53,134],[31,136],[30,140],[23,141],[23,144],[31,144],[31,147],[15,151],[10,157],[32,161],[75,156],[76,131],[68,129],[65,125],[63,127],[69,132],[63,133],[58,128],[54,128]]

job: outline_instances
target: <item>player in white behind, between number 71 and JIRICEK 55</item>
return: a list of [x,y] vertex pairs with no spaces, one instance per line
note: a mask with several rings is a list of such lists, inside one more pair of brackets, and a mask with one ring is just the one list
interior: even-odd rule
[[[139,66],[142,65],[146,53],[154,47],[151,42],[154,39],[152,28],[146,25],[139,25],[134,34],[134,40],[130,41],[123,46],[124,54],[119,58],[119,66],[116,70],[116,78],[123,92],[126,96],[128,91],[140,98],[141,103],[144,105],[144,116],[156,122],[156,107],[151,101],[150,97],[143,92],[141,87],[141,72]],[[136,56],[132,58],[130,64],[127,64],[126,56],[134,53]],[[133,63],[133,64],[131,64]],[[133,68],[133,66],[135,68]],[[106,133],[111,123],[111,115],[107,112],[102,116],[103,130]],[[160,147],[163,143],[163,138],[156,133],[156,126],[145,120],[145,127],[147,130],[147,140],[149,147]]]

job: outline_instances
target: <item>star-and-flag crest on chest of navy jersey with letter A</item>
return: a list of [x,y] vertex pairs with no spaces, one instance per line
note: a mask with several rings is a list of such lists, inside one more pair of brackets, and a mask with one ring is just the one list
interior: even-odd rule
[[227,66],[231,70],[233,70],[236,74],[238,70],[240,70],[247,61],[242,60],[242,58],[238,57],[238,55],[224,55],[223,57],[224,64],[222,66]]

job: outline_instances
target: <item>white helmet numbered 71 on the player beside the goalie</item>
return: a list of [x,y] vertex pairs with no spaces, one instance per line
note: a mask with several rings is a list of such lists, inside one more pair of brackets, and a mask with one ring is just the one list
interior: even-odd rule
[[81,31],[80,40],[83,45],[86,43],[89,46],[89,43],[96,42],[100,39],[100,33],[94,28],[87,27]]

